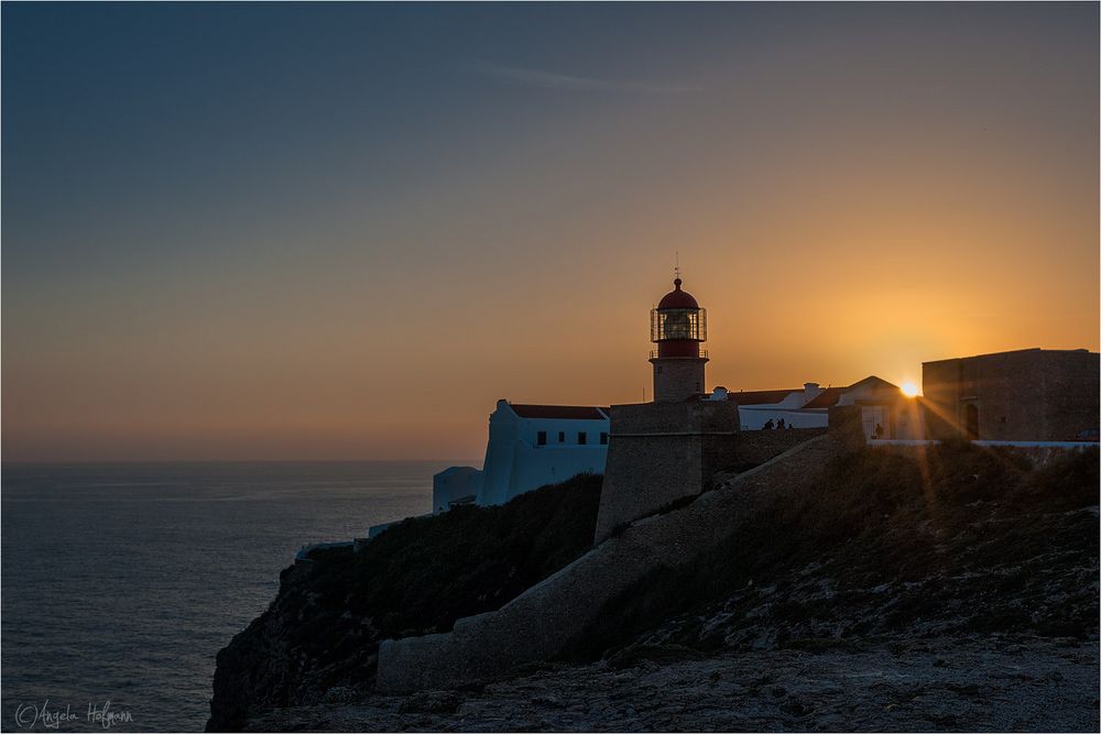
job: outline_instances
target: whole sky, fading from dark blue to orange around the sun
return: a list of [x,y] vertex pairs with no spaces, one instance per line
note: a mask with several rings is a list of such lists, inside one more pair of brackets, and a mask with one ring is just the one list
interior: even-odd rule
[[[1097,3],[4,3],[6,461],[1099,347]],[[677,254],[678,253],[678,254]]]

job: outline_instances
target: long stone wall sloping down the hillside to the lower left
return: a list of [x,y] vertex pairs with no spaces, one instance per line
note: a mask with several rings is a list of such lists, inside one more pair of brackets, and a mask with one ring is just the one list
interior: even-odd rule
[[839,450],[846,445],[829,436],[813,438],[684,507],[632,523],[497,612],[459,620],[450,633],[383,642],[378,689],[456,686],[554,656],[636,579],[735,533],[739,516],[775,486],[815,482]]

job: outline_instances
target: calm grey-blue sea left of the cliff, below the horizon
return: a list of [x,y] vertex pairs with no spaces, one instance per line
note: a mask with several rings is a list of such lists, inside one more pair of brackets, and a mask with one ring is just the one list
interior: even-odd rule
[[459,463],[4,464],[0,731],[201,731],[295,552],[429,512]]

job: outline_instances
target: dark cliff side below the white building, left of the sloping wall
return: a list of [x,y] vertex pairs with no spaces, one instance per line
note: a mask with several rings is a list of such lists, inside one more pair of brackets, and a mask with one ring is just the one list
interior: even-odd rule
[[505,505],[404,521],[358,554],[315,551],[312,572],[285,570],[269,610],[218,654],[207,727],[367,689],[380,640],[500,607],[591,547],[600,484],[582,474]]

